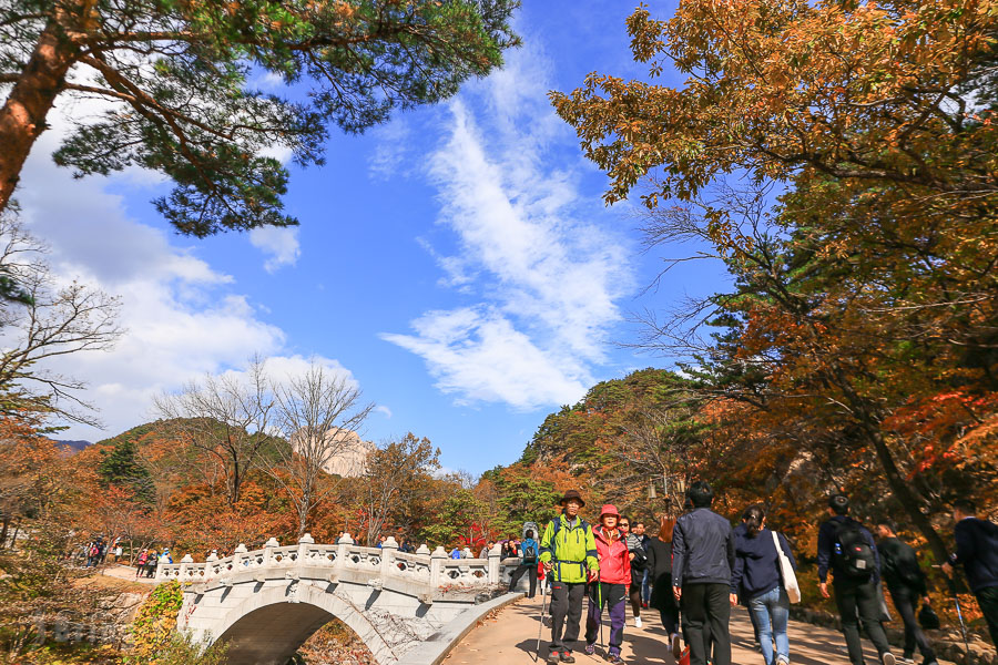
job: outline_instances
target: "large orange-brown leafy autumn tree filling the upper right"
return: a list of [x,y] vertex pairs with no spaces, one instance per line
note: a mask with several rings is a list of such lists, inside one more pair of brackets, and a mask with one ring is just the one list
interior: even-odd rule
[[[995,21],[956,1],[642,7],[628,29],[649,80],[594,73],[552,95],[608,201],[650,176],[652,243],[694,239],[736,277],[651,321],[659,348],[685,347],[745,403],[834,423],[937,557],[941,497],[892,421],[996,388]],[[654,81],[666,66],[682,88]],[[696,339],[705,323],[726,331]]]

